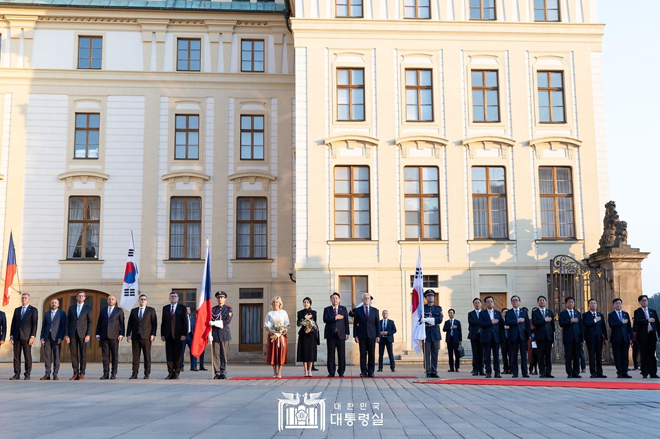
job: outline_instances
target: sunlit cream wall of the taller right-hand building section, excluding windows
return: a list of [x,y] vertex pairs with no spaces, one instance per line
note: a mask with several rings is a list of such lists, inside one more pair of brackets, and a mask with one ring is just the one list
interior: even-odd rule
[[[324,3],[316,19],[314,2],[309,8],[299,1],[292,19],[298,301],[309,295],[320,310],[338,291],[340,275],[367,275],[374,306],[388,308],[400,325],[399,350],[408,349],[418,245],[405,237],[403,168],[437,166],[441,239],[421,242],[423,273],[439,276],[436,302],[455,308],[459,319],[472,309],[472,297],[486,292],[520,295],[531,309],[547,293],[549,260],[584,258],[600,235],[607,169],[602,131],[597,135],[602,72],[593,67],[603,25],[583,23],[595,23],[591,2],[568,1],[568,14],[562,2],[562,23],[529,23],[531,1],[518,2],[520,20],[509,14],[511,1],[497,2],[505,15],[489,23],[461,18],[467,1],[454,1],[455,18],[443,18],[448,2],[440,1],[441,26],[432,23],[437,16],[406,21],[395,10],[386,21],[366,13],[362,20],[328,20]],[[373,16],[384,18],[377,5],[391,3],[397,4],[372,1]],[[577,4],[580,14],[572,9]],[[335,122],[338,67],[364,68],[365,122]],[[406,68],[432,69],[433,122],[406,122]],[[472,122],[471,69],[498,71],[501,122]],[[564,71],[566,123],[538,122],[536,71],[546,69]],[[333,238],[332,172],[340,165],[369,166],[371,240]],[[474,240],[472,166],[505,168],[508,240]],[[574,240],[541,237],[539,166],[573,170]],[[350,298],[342,303],[350,306]]]

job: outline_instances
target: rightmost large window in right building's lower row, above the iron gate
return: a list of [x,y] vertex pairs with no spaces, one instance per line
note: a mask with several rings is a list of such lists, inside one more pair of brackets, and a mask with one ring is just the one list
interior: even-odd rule
[[571,168],[538,168],[543,238],[575,238]]

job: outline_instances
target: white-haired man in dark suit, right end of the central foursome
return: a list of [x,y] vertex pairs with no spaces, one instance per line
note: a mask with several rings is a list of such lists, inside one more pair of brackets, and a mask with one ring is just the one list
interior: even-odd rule
[[360,376],[373,378],[376,344],[380,341],[378,310],[371,306],[371,295],[362,294],[362,306],[353,309],[353,337],[360,347]]

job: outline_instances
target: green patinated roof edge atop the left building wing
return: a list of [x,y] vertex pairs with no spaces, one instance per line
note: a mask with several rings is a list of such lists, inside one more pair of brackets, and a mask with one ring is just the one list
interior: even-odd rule
[[256,3],[247,0],[0,0],[0,5],[232,12],[282,12],[285,8],[282,3],[262,0]]

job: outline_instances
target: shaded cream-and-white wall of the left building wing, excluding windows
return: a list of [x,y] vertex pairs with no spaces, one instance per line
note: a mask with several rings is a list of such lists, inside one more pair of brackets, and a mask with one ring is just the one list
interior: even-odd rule
[[[203,260],[168,260],[168,212],[171,196],[201,196],[212,290],[226,291],[235,309],[232,350],[238,351],[239,304],[262,303],[266,313],[270,297],[281,295],[294,315],[295,284],[289,280],[294,56],[281,14],[252,14],[252,24],[241,21],[240,14],[177,12],[177,19],[187,19],[181,25],[170,21],[168,11],[17,9],[12,14],[21,19],[0,20],[3,37],[5,25],[12,36],[21,31],[12,41],[3,38],[10,60],[5,50],[0,55],[3,278],[11,229],[22,291],[32,295],[40,313],[47,297],[59,291],[118,294],[132,231],[140,291],[159,310],[171,289],[199,289]],[[115,22],[119,17],[124,21]],[[30,26],[32,33],[24,32]],[[101,70],[76,69],[78,35],[103,37]],[[168,36],[174,42],[176,36],[201,38],[200,72],[164,68],[167,56],[175,56],[173,46],[171,54],[165,53]],[[241,73],[240,68],[230,73],[230,54],[239,56],[236,45],[243,36],[265,38],[265,73]],[[100,113],[98,160],[72,159],[76,111]],[[200,116],[199,160],[172,158],[178,113]],[[243,113],[265,116],[264,161],[239,159]],[[67,200],[72,195],[101,197],[98,261],[66,260]],[[268,199],[267,260],[235,260],[237,196]],[[239,300],[241,287],[263,288],[263,300]],[[9,319],[19,303],[12,291],[3,309]],[[153,352],[156,361],[164,359],[159,339]],[[127,344],[121,345],[120,355],[130,359]],[[10,358],[10,350],[0,350],[0,359]]]

